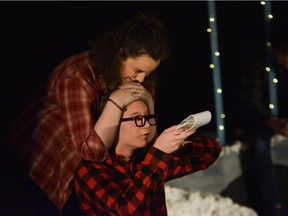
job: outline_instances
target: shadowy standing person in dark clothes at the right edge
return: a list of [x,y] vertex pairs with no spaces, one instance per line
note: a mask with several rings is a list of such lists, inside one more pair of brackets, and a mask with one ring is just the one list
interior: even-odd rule
[[[281,197],[271,157],[271,137],[288,138],[288,28],[274,24],[272,32],[273,61],[277,79],[278,115],[269,109],[268,73],[265,70],[265,43],[254,43],[247,50],[242,87],[242,110],[250,167],[247,175],[248,200],[262,216],[281,215]],[[251,188],[249,188],[251,187]],[[256,190],[256,191],[255,191]],[[253,191],[253,192],[252,192]],[[253,193],[253,194],[252,194]]]

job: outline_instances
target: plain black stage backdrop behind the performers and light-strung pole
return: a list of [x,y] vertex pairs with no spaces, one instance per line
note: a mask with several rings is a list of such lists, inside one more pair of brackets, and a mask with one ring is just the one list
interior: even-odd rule
[[[287,2],[273,1],[274,17],[287,16]],[[238,109],[239,64],[249,41],[264,37],[259,1],[216,2],[227,140],[234,139]],[[139,11],[151,11],[166,23],[173,53],[160,66],[156,111],[161,132],[189,114],[215,114],[209,69],[210,40],[206,32],[206,1],[1,2],[1,131],[12,122],[52,69],[88,42]],[[286,17],[285,17],[286,18]],[[216,133],[215,118],[199,133]]]

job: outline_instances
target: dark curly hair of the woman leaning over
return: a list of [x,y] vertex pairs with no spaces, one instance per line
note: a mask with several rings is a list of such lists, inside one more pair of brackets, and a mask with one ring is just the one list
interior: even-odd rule
[[[143,54],[149,55],[156,61],[165,61],[170,56],[170,44],[165,25],[159,17],[148,13],[140,13],[114,31],[102,34],[91,43],[90,48],[94,73],[96,76],[103,76],[107,89],[111,91],[121,82],[121,62],[129,57],[139,57]],[[151,75],[145,79],[144,86],[151,84],[153,80]]]

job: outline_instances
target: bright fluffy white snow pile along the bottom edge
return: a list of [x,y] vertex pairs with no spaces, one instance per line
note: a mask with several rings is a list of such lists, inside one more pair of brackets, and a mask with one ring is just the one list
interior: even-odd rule
[[257,216],[253,209],[218,194],[188,192],[167,185],[165,193],[169,216]]

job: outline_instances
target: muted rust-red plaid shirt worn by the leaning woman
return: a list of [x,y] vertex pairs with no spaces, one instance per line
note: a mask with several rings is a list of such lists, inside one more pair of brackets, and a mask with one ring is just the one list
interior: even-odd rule
[[93,129],[101,94],[88,52],[77,54],[55,68],[14,124],[10,145],[59,208],[71,194],[81,158],[101,161],[108,154]]

